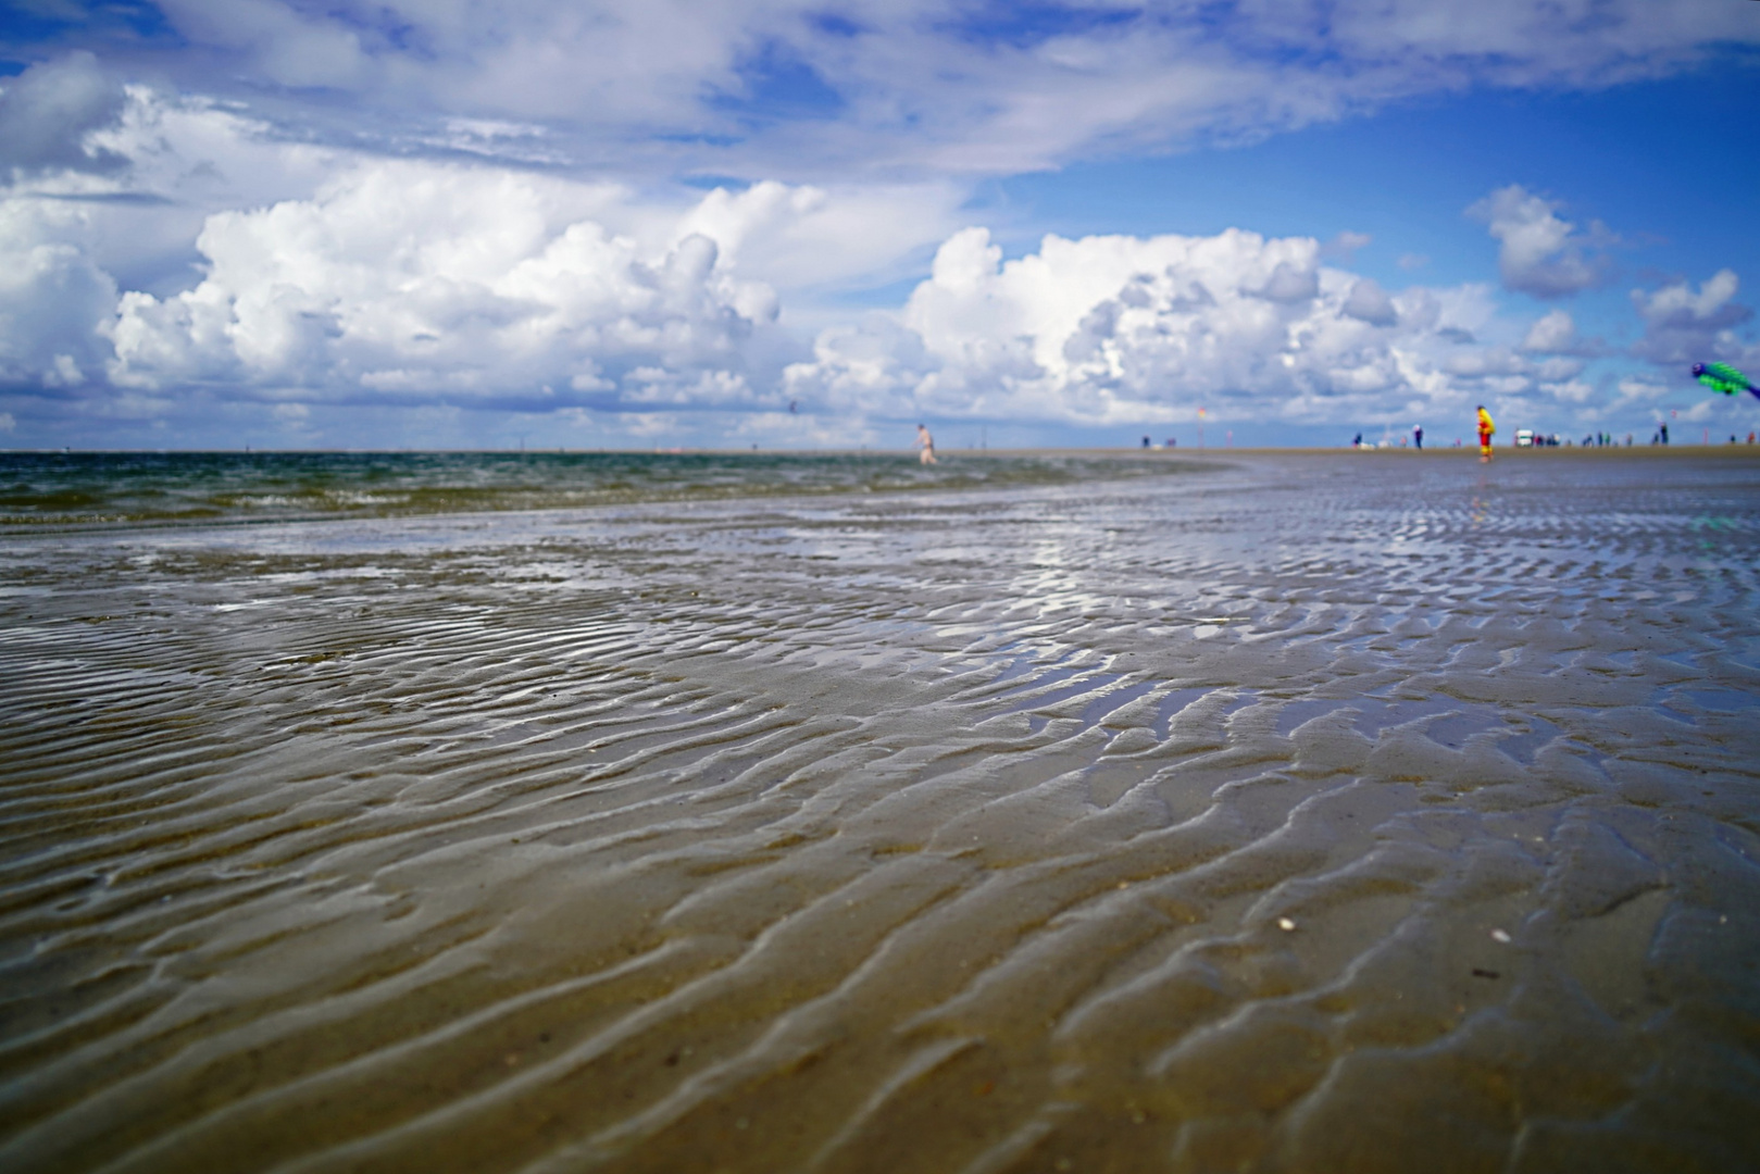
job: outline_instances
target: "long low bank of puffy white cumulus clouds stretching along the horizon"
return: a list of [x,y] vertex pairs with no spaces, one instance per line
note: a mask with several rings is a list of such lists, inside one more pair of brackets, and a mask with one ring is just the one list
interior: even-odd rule
[[[1596,412],[1586,366],[1609,349],[1570,312],[1521,322],[1477,283],[1387,290],[1329,264],[1332,245],[1241,229],[1047,236],[1005,260],[989,229],[964,227],[898,310],[788,327],[778,285],[755,273],[799,290],[896,255],[908,234],[875,239],[889,216],[908,220],[899,208],[760,183],[664,211],[616,183],[357,160],[308,199],[208,215],[199,280],[155,294],[69,243],[92,238],[104,204],[16,197],[0,202],[0,378],[139,419],[206,401],[273,407],[289,426],[317,405],[649,424],[709,410],[799,414],[820,440],[906,417],[1148,428],[1202,407],[1218,422],[1406,426],[1480,401]],[[840,260],[852,232],[864,245]],[[1737,290],[1734,271],[1633,290],[1633,354],[1748,361]]]

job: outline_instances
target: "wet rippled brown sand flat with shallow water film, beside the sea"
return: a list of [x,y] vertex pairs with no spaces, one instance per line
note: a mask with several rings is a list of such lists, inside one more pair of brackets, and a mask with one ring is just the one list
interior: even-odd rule
[[0,1169],[1760,1167],[1760,459],[1096,470],[0,540]]

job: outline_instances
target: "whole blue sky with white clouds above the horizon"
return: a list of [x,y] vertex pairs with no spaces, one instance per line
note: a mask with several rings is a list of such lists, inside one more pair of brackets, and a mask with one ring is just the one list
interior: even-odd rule
[[0,447],[1727,440],[1755,0],[0,0]]

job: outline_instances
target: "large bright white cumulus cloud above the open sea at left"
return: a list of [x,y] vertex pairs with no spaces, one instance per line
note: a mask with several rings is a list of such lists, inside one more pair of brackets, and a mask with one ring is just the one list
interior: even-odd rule
[[609,201],[505,171],[375,164],[313,199],[213,215],[201,283],[121,297],[109,377],[414,398],[551,385],[611,401],[739,377],[746,340],[776,315],[771,289],[736,278],[700,232],[644,250],[567,215],[595,197]]

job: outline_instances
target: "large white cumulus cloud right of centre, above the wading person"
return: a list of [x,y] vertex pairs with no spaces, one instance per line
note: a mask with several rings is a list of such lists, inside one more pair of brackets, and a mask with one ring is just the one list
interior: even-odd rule
[[[1003,262],[986,229],[935,257],[896,317],[822,333],[790,394],[884,415],[1074,424],[1218,417],[1338,422],[1457,405],[1492,375],[1450,371],[1484,320],[1478,290],[1389,296],[1322,266],[1311,238],[1047,236]],[[1480,352],[1470,349],[1473,356]]]

